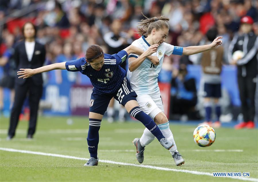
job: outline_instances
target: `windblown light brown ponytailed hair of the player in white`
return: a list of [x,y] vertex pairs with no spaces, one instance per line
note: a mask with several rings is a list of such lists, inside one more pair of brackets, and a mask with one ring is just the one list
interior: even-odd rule
[[[144,16],[144,15],[143,15]],[[145,35],[146,37],[151,33],[153,29],[160,30],[164,27],[169,29],[168,21],[169,18],[160,16],[142,19],[139,23],[139,26],[136,28],[136,33],[139,35]]]

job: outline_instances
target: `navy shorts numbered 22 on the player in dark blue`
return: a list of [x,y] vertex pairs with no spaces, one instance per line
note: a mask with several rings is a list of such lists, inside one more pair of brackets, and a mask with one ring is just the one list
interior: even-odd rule
[[104,115],[112,97],[119,101],[119,104],[125,106],[128,101],[136,101],[137,94],[131,89],[131,85],[125,77],[123,84],[114,94],[104,95],[93,91],[90,97],[90,112]]

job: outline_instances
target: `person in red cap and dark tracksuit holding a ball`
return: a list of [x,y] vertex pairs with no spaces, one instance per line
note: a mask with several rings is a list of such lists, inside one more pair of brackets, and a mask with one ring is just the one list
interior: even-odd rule
[[[258,37],[253,32],[253,19],[244,16],[240,22],[240,31],[234,36],[228,52],[230,62],[237,65],[238,87],[244,116],[244,122],[236,125],[236,129],[255,127],[255,89],[258,74]],[[240,51],[242,54],[234,56],[235,51]]]

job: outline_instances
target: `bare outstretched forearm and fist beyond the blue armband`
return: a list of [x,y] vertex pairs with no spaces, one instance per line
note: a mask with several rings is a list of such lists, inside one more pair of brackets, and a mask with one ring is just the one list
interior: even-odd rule
[[209,45],[200,45],[200,46],[189,46],[183,48],[183,55],[192,55],[197,53],[202,53],[205,51],[209,51],[211,49],[215,49],[218,45],[222,44],[223,37],[217,37],[214,41]]

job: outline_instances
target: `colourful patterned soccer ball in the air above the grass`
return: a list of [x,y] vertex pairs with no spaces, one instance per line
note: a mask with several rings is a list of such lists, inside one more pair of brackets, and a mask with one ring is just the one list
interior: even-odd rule
[[200,147],[211,146],[215,139],[215,130],[209,125],[200,125],[193,131],[193,141]]

